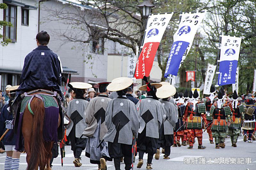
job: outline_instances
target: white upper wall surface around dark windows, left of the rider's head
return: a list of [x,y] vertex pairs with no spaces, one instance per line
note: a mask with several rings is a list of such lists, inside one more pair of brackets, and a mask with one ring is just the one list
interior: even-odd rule
[[[34,0],[16,0],[27,5],[36,6]],[[3,3],[0,0],[0,3]],[[4,10],[0,10],[1,20],[4,18]],[[17,42],[8,46],[0,46],[0,68],[22,70],[25,56],[36,48],[36,34],[38,25],[38,11],[29,10],[29,26],[21,25],[21,7],[17,7]],[[0,30],[3,34],[3,29]]]

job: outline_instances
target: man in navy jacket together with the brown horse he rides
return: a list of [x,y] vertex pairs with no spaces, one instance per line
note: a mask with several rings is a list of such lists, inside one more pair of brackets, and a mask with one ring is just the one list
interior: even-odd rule
[[[42,122],[41,131],[43,131],[43,134],[41,134],[40,136],[41,138],[40,137],[39,138],[40,140],[44,140],[43,147],[45,147],[45,149],[47,147],[50,147],[51,149],[53,142],[57,142],[58,139],[60,140],[63,137],[63,128],[62,128],[63,115],[62,115],[62,108],[60,104],[61,103],[60,101],[63,99],[63,95],[60,90],[62,66],[60,62],[60,57],[54,52],[52,52],[50,48],[47,47],[49,40],[50,40],[50,35],[46,31],[41,31],[36,35],[36,42],[38,47],[33,51],[31,51],[25,57],[22,74],[20,76],[20,87],[16,91],[16,101],[14,102],[14,107],[16,105],[14,131],[15,133],[17,133],[18,136],[20,136],[17,139],[16,149],[19,151],[22,151],[25,149],[27,154],[28,152],[33,151],[33,149],[31,148],[34,147],[33,144],[35,143],[31,142],[28,145],[26,145],[26,142],[25,142],[26,134],[24,134],[26,132],[26,129],[25,129],[26,124],[24,124],[24,121],[28,121],[29,119],[31,119],[31,121],[34,121],[34,124],[35,124],[35,122],[38,121],[37,118],[41,119],[40,120]],[[41,116],[41,117],[38,117],[38,116]],[[34,124],[32,123],[31,127],[28,127],[30,128],[28,132],[31,133],[31,140],[33,140],[33,133],[35,133],[36,130],[38,129],[36,126],[34,126]],[[59,129],[58,129],[58,139],[57,139],[56,133],[57,133],[58,127]],[[22,130],[22,134],[21,134],[21,130]],[[48,133],[51,130],[52,130],[51,132],[52,134],[50,136],[47,134],[48,135],[47,136],[46,132]],[[56,134],[56,136],[54,136],[54,134]],[[24,137],[24,143],[22,143],[22,136]],[[36,135],[35,135],[35,138],[36,138]],[[46,146],[45,144],[47,143],[49,143],[50,145]],[[41,153],[37,153],[37,154],[40,155]],[[49,151],[47,154],[51,155],[52,153]],[[29,159],[30,158],[34,159],[33,153],[32,155],[30,154],[31,155],[31,157],[29,156],[30,158],[28,158],[28,155],[29,155],[28,154],[27,169],[33,169],[33,168],[37,169],[38,166],[40,166],[40,169],[41,169],[43,168],[42,167],[43,165],[45,167],[46,163],[48,166],[49,155],[47,156],[47,154],[46,154],[47,162],[46,160],[42,160],[41,158],[38,158],[34,160],[36,162],[35,165],[33,165],[34,167],[29,167],[29,166],[32,166],[32,164],[29,163]]]

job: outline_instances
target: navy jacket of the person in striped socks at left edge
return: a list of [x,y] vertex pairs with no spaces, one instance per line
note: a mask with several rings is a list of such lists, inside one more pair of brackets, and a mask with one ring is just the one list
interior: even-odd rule
[[[5,132],[5,121],[6,120],[13,120],[13,115],[7,110],[9,107],[8,104],[4,105],[4,107],[1,110],[0,114],[0,135],[2,136]],[[11,125],[12,126],[12,125]],[[4,136],[2,142],[4,145],[15,145],[16,144],[16,134],[13,132],[13,129],[10,129],[6,135]]]

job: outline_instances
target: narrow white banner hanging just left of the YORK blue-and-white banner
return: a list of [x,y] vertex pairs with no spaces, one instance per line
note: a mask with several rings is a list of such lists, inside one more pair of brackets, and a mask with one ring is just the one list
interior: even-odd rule
[[212,85],[212,80],[214,78],[214,73],[216,70],[216,65],[208,64],[208,68],[206,71],[206,76],[204,80],[204,92],[203,94],[210,94],[210,89]]

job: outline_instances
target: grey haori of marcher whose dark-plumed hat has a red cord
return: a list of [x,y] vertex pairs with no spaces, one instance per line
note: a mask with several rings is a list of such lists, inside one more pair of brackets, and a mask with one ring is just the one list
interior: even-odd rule
[[[137,107],[139,102],[137,103]],[[146,127],[146,137],[159,138],[159,129],[166,117],[162,103],[152,97],[141,100],[139,108],[140,129],[141,133]]]

